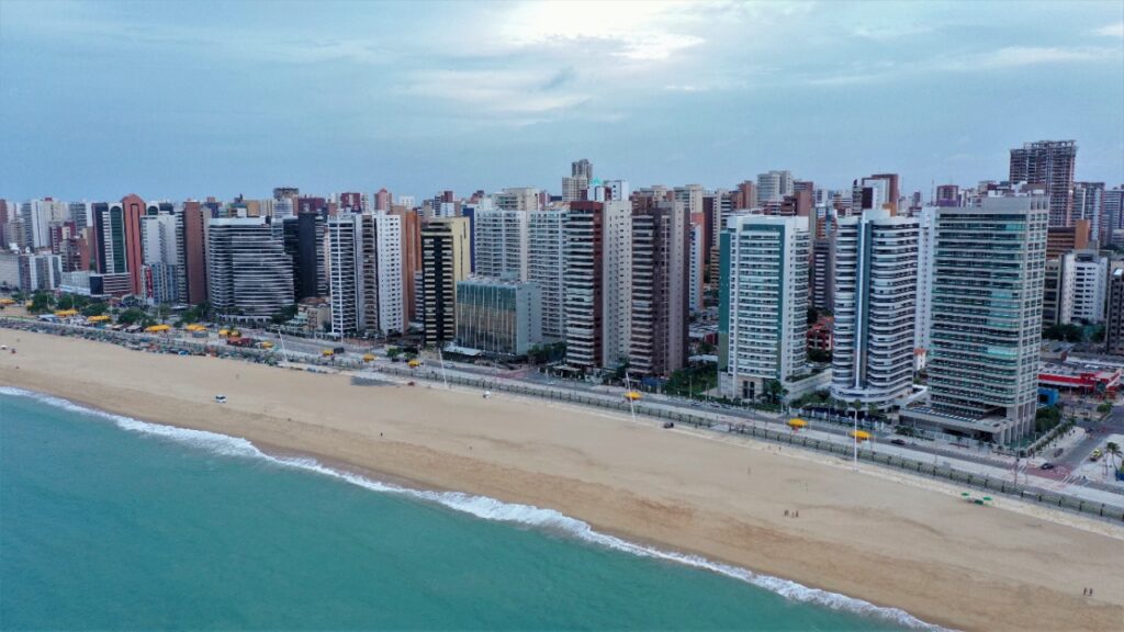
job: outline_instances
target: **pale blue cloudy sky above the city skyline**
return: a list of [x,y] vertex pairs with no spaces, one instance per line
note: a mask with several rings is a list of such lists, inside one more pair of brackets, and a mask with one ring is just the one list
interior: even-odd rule
[[0,197],[419,199],[770,169],[903,191],[1078,142],[1124,182],[1124,0],[0,0]]

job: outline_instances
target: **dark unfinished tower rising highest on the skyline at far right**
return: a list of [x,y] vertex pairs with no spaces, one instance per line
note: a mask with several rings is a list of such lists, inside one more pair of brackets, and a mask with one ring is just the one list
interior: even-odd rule
[[1010,182],[1045,186],[1050,198],[1050,225],[1070,226],[1073,222],[1073,172],[1077,164],[1076,141],[1037,141],[1010,150]]

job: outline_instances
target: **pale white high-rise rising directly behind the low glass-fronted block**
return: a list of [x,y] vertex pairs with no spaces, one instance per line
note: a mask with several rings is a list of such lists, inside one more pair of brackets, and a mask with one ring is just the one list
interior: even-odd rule
[[471,223],[472,269],[478,277],[527,280],[529,219],[526,210],[475,209]]

